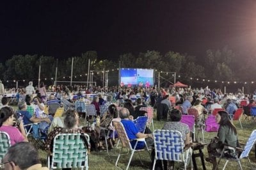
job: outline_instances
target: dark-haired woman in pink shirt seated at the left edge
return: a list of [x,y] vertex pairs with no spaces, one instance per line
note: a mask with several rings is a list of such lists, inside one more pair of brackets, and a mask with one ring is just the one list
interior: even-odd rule
[[[23,121],[20,120],[19,122],[20,131],[13,125],[15,125],[15,112],[12,107],[2,107],[0,109],[0,131],[6,132],[10,136],[11,145],[22,141],[28,141]],[[17,122],[16,125],[18,125]]]

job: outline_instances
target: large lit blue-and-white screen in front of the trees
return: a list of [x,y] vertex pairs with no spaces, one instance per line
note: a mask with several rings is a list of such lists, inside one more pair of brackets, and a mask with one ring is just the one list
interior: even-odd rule
[[142,68],[121,68],[121,86],[154,86],[154,70]]

